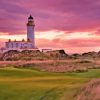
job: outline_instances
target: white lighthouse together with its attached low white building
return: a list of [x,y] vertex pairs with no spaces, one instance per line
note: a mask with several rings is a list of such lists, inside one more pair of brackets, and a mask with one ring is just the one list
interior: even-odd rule
[[9,41],[5,43],[6,50],[35,49],[34,27],[34,19],[30,15],[27,23],[27,41],[24,39],[22,41],[11,41],[9,39]]

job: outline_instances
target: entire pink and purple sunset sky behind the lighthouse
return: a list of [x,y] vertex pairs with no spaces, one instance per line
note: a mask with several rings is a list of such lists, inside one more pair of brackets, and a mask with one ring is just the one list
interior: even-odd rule
[[0,47],[26,38],[30,14],[38,48],[100,50],[100,0],[0,0]]

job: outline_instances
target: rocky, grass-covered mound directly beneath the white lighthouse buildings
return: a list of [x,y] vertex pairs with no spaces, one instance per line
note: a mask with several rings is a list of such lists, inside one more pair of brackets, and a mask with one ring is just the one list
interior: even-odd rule
[[48,60],[48,59],[65,59],[68,55],[64,50],[55,50],[50,52],[40,52],[39,50],[9,50],[0,54],[0,60],[18,61],[18,60]]

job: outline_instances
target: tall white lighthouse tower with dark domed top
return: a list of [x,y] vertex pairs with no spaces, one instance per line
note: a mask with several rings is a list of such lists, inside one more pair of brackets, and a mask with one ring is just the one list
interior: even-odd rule
[[27,23],[27,41],[33,44],[33,48],[35,48],[34,27],[35,27],[34,19],[30,15],[30,17],[28,18],[28,23]]

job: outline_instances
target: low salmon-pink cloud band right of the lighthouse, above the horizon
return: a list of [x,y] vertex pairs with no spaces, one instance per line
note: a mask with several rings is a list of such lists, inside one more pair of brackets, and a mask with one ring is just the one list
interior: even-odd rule
[[100,40],[97,39],[37,39],[37,47],[40,48],[54,48],[54,49],[65,49],[68,53],[82,53],[88,51],[99,51]]

